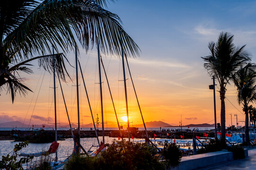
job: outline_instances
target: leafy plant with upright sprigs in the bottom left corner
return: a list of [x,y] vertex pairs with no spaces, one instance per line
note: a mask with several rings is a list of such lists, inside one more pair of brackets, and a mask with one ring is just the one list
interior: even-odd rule
[[0,161],[0,169],[5,170],[23,170],[22,164],[27,163],[33,159],[33,156],[27,156],[26,158],[20,158],[17,160],[18,151],[22,148],[25,148],[28,145],[28,142],[21,142],[15,144],[12,155],[2,156],[2,161]]

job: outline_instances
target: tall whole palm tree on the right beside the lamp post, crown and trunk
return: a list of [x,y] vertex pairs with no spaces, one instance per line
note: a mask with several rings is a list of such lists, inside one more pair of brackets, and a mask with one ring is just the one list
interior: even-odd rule
[[219,35],[218,41],[209,42],[210,54],[202,57],[205,61],[204,68],[210,76],[215,76],[220,85],[221,98],[221,142],[225,141],[225,93],[226,85],[230,83],[232,76],[238,69],[246,64],[250,58],[245,50],[245,45],[235,47],[233,43],[234,35],[222,32]]

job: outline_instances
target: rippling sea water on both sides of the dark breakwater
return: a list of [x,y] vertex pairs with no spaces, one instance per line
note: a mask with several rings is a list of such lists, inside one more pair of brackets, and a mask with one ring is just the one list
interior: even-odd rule
[[[164,127],[164,129],[177,129],[179,127]],[[182,129],[191,129],[193,130],[194,127],[182,127]],[[11,130],[13,128],[0,128],[0,130]],[[52,128],[44,128],[45,130],[52,130]],[[144,128],[139,128],[139,130],[143,130]],[[162,129],[162,128],[161,128]],[[199,130],[211,130],[213,127],[198,127]],[[27,128],[17,128],[17,130],[27,130]],[[69,128],[65,127],[60,127],[58,130],[69,130]],[[90,130],[90,128],[82,128],[82,130]],[[117,127],[109,127],[106,128],[106,130],[118,130]],[[149,127],[147,130],[160,130],[159,127]],[[105,143],[112,143],[112,141],[118,138],[115,137],[108,137],[105,136]],[[102,141],[102,136],[99,136],[99,140]],[[126,139],[128,140],[128,139]],[[143,140],[143,139],[135,139],[135,140]],[[0,160],[1,156],[4,155],[6,156],[7,154],[12,154],[13,153],[13,148],[15,144],[18,144],[19,142],[14,142],[13,140],[2,140],[0,141]],[[60,143],[59,148],[58,148],[58,160],[65,160],[69,155],[72,154],[73,148],[74,148],[74,142],[72,138],[65,139],[63,141],[58,141]],[[84,147],[86,151],[88,150],[96,150],[97,147],[92,147],[92,146],[97,146],[97,138],[91,137],[91,138],[81,138],[81,144]],[[44,143],[44,144],[34,144],[34,143],[29,143],[26,148],[23,148],[19,153],[39,153],[42,151],[48,151],[51,143]],[[52,158],[55,158],[55,154],[51,154]]]

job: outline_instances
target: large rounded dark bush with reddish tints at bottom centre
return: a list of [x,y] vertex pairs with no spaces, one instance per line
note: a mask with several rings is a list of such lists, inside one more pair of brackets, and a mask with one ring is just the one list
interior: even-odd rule
[[113,140],[101,153],[100,163],[104,170],[164,170],[159,162],[157,149],[146,143],[133,143]]

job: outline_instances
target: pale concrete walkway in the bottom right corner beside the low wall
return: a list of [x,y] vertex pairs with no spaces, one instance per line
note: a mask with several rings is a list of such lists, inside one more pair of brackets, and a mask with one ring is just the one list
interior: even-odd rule
[[222,162],[198,170],[256,170],[256,149],[248,150],[248,157],[245,159]]

